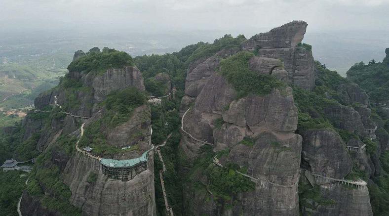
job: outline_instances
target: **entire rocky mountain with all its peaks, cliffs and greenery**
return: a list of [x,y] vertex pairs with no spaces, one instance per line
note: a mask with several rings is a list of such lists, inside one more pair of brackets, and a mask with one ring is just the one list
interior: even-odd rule
[[19,215],[386,215],[389,49],[343,78],[314,61],[307,27],[76,51],[1,134],[9,158],[34,162]]

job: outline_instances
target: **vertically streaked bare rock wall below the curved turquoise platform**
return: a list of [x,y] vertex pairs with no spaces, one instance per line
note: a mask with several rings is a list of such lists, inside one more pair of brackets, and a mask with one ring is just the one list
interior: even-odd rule
[[[146,171],[120,181],[107,178],[98,160],[74,154],[64,171],[64,183],[72,191],[71,203],[87,216],[155,216],[153,155],[149,153]],[[90,173],[97,174],[95,182],[87,181]]]

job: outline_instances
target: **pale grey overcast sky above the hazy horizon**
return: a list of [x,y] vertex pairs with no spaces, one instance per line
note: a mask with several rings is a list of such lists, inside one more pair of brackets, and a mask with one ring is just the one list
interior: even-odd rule
[[309,31],[389,29],[389,0],[0,0],[1,32],[243,31],[305,20]]

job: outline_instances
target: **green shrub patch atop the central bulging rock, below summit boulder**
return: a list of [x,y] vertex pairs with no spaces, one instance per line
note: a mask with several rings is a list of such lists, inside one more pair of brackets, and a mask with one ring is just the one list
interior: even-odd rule
[[265,95],[270,93],[273,88],[285,86],[271,75],[262,75],[251,71],[248,61],[253,56],[252,52],[241,51],[220,62],[219,73],[233,85],[238,98],[250,93]]

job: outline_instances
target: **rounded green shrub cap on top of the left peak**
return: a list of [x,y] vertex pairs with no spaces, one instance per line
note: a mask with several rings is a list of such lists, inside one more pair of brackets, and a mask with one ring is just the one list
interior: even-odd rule
[[[92,48],[93,49],[93,48]],[[134,66],[132,57],[115,49],[90,50],[85,56],[70,63],[68,70],[71,72],[88,73],[90,71],[104,72],[110,68],[122,68]]]

